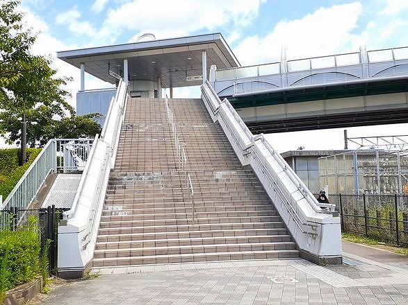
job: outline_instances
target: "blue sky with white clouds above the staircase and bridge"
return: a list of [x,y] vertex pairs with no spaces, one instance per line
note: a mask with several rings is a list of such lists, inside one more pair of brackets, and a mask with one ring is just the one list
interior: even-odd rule
[[[364,45],[367,49],[408,45],[408,0],[22,0],[21,9],[27,26],[39,33],[34,51],[53,57],[66,49],[131,42],[145,32],[157,38],[220,32],[244,65],[275,61],[282,47],[288,58],[303,58],[358,51]],[[79,71],[60,60],[54,65],[74,78],[68,86],[74,94]],[[87,89],[107,86],[86,78]],[[175,95],[195,92],[179,89]],[[387,127],[386,133],[401,133],[401,128],[406,125]],[[366,134],[368,129],[353,130]],[[280,150],[314,148],[297,139],[329,139],[329,132],[336,131],[293,133],[293,147],[281,145]],[[337,132],[340,139],[332,148],[341,148],[342,131]]]

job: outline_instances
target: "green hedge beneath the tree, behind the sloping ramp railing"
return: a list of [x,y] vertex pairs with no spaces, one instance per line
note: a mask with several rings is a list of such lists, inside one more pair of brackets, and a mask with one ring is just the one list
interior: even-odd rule
[[19,150],[17,148],[0,150],[0,195],[3,195],[3,200],[6,200],[8,194],[13,191],[15,184],[24,175],[40,151],[40,148],[27,148],[28,161],[23,166],[18,166]]

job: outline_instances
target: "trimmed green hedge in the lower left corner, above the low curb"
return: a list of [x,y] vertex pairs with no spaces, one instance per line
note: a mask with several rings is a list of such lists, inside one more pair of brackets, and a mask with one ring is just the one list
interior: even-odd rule
[[0,232],[0,296],[40,274],[38,229]]

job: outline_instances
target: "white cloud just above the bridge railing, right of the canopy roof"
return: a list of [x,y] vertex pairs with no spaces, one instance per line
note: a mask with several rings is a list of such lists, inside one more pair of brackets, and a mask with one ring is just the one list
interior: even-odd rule
[[302,19],[280,21],[265,37],[245,38],[235,53],[242,64],[257,64],[280,60],[284,46],[288,59],[345,51],[357,40],[352,30],[360,14],[359,2],[319,8]]

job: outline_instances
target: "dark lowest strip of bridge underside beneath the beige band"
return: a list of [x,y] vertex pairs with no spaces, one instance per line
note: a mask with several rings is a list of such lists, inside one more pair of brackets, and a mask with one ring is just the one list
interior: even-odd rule
[[408,123],[408,108],[247,123],[254,134]]

